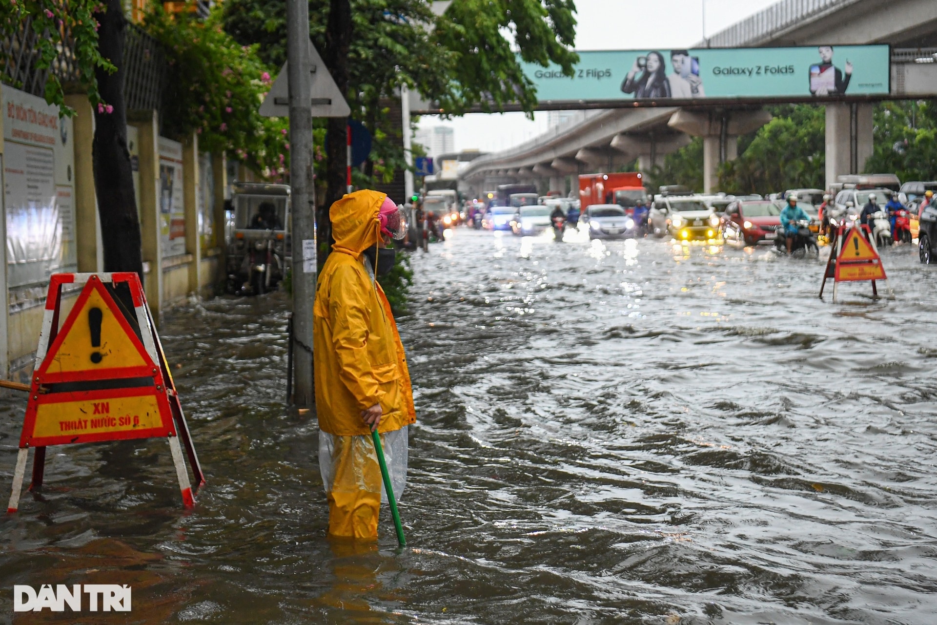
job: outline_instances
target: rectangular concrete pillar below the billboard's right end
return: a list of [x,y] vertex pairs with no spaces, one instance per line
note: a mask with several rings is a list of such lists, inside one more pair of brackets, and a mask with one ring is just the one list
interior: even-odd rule
[[837,102],[826,105],[826,188],[837,176],[859,173],[872,156],[872,105]]

